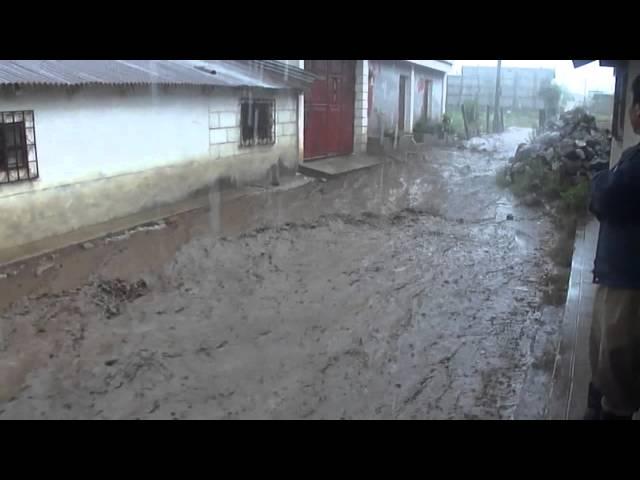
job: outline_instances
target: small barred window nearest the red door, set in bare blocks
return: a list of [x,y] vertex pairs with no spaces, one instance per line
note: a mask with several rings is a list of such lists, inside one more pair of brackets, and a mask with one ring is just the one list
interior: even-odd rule
[[276,102],[272,99],[242,99],[240,145],[271,145],[276,142]]

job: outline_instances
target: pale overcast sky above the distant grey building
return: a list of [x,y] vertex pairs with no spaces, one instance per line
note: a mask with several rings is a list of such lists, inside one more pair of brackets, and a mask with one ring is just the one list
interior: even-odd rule
[[[463,65],[496,66],[497,60],[454,60],[452,74],[460,74]],[[503,67],[553,68],[556,81],[573,93],[583,95],[585,88],[613,93],[615,78],[613,68],[601,67],[597,61],[580,68],[573,68],[571,60],[503,60]]]

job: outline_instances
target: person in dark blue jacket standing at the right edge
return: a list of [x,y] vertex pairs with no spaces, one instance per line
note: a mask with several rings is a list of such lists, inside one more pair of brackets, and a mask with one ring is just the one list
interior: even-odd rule
[[[632,92],[629,116],[640,135],[640,76]],[[589,210],[600,234],[585,419],[631,420],[640,410],[640,143],[593,177]]]

